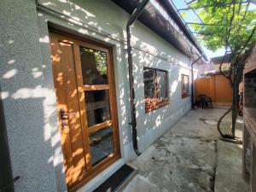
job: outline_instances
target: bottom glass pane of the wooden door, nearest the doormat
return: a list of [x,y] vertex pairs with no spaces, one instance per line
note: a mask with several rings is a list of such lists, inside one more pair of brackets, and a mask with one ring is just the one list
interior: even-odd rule
[[106,158],[108,154],[113,154],[113,131],[111,126],[90,133],[90,154],[92,166]]

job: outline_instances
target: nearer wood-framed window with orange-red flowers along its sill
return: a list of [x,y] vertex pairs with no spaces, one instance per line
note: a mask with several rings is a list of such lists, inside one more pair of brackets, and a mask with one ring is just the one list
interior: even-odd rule
[[167,72],[154,68],[144,68],[145,111],[149,112],[168,104]]

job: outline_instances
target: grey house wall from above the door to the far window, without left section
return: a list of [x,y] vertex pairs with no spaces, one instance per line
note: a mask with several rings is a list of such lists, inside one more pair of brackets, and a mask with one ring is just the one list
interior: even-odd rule
[[[61,15],[67,16],[67,20],[63,18],[61,20],[56,16],[45,14],[43,11],[39,16],[41,20],[65,26],[84,34],[85,38],[91,38],[103,44],[113,46],[115,53],[113,59],[117,85],[120,143],[123,157],[126,160],[131,160],[135,155],[132,150],[131,125],[129,125],[130,104],[126,51],[125,44],[122,42],[122,39],[126,38],[125,24],[129,20],[130,15],[115,3],[106,0],[39,0],[38,2],[49,9],[61,13]],[[108,36],[106,33],[110,35]],[[132,44],[136,47],[133,50],[133,59],[136,84],[138,141],[139,147],[143,151],[157,137],[160,137],[163,132],[170,129],[184,113],[189,111],[190,97],[185,99],[181,97],[180,76],[181,73],[190,73],[190,60],[189,57],[183,55],[183,53],[175,49],[171,44],[168,44],[159,35],[150,31],[148,27],[139,21],[136,21],[134,26],[132,26],[131,33]],[[118,40],[115,40],[115,38],[118,38]],[[171,61],[162,60],[154,55],[164,56]],[[165,69],[169,72],[168,81],[171,104],[164,108],[154,110],[152,113],[144,113],[143,67],[155,67]]]

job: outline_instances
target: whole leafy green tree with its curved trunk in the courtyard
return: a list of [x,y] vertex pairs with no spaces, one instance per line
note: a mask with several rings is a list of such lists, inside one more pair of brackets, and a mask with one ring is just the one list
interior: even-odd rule
[[236,117],[238,114],[238,86],[241,82],[242,71],[256,41],[255,24],[256,10],[252,0],[196,0],[189,4],[201,17],[201,23],[191,25],[200,36],[201,43],[207,49],[215,51],[224,48],[230,54],[228,73],[222,72],[229,79],[232,87],[232,125],[230,135],[224,135],[220,130],[221,120],[218,120],[218,131],[222,137],[235,138]]

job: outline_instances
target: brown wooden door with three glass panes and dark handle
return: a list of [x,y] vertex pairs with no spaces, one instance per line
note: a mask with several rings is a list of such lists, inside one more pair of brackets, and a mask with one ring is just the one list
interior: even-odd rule
[[112,49],[50,32],[66,182],[79,189],[119,158]]

